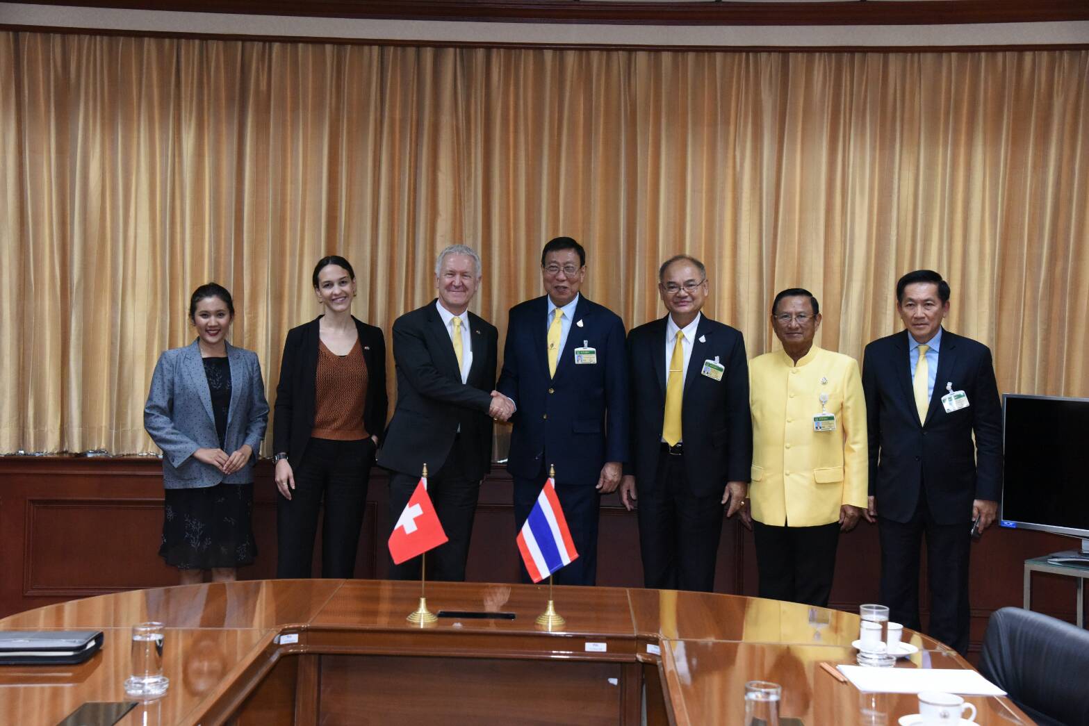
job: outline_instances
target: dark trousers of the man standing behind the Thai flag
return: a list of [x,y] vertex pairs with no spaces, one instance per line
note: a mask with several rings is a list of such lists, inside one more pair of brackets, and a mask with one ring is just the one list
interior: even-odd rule
[[[514,525],[515,532],[522,530],[529,513],[537,504],[537,496],[548,479],[543,466],[540,473],[533,479],[514,479]],[[555,585],[595,585],[598,579],[598,513],[601,508],[601,494],[597,490],[597,481],[570,483],[555,482],[555,494],[563,508],[563,517],[567,520],[571,539],[578,553],[578,558],[566,567],[555,571],[552,581]],[[512,546],[514,542],[511,542]],[[533,582],[526,566],[518,557],[518,569],[523,582]]]

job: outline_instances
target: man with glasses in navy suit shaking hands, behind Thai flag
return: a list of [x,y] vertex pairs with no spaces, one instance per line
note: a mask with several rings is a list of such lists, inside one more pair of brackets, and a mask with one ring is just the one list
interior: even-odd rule
[[[627,460],[627,367],[624,323],[578,293],[586,251],[571,237],[544,245],[547,295],[511,309],[497,390],[516,410],[506,465],[514,478],[518,528],[555,466],[555,490],[578,559],[555,574],[560,585],[597,579],[601,494],[620,484]],[[523,569],[523,579],[528,575]]]

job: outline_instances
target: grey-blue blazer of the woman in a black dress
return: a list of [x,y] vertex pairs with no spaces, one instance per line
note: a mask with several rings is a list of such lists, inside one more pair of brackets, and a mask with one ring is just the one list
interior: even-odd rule
[[162,450],[162,480],[167,489],[198,489],[247,484],[254,480],[257,450],[265,438],[269,405],[257,354],[227,343],[231,366],[231,408],[227,415],[227,453],[249,444],[254,455],[244,467],[224,477],[216,467],[198,462],[198,448],[218,448],[211,392],[205,377],[198,342],[159,356],[151,390],[144,406],[144,428]]

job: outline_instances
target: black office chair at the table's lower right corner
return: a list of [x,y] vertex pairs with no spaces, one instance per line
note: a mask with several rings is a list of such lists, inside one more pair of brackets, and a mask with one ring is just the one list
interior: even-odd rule
[[991,614],[979,672],[1044,726],[1089,724],[1089,631],[1048,615]]

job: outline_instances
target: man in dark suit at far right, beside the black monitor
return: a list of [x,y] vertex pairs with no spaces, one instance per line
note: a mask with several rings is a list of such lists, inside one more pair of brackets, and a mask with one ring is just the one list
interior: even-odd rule
[[[919,547],[927,538],[929,633],[968,649],[971,531],[994,521],[1002,489],[1002,417],[991,352],[942,328],[950,286],[932,270],[896,283],[906,331],[862,358],[870,447],[867,519],[878,520],[881,602],[919,629]],[[975,443],[972,434],[975,433]]]

